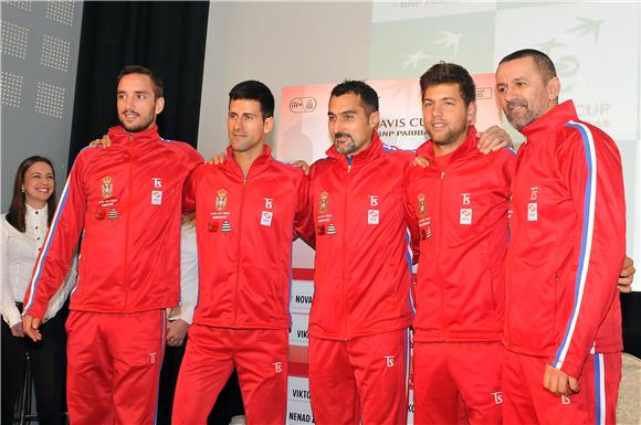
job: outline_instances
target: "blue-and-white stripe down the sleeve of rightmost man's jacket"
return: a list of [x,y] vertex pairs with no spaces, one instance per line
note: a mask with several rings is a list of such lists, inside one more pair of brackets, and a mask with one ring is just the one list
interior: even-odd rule
[[590,157],[590,144],[589,144],[588,134],[586,132],[586,130],[582,126],[579,126],[577,124],[567,123],[566,127],[574,128],[574,129],[578,130],[579,134],[581,135],[581,139],[584,141],[584,149],[586,152],[586,163],[587,163],[588,176],[586,177],[587,182],[586,182],[586,192],[585,192],[585,200],[584,200],[584,224],[582,224],[582,230],[581,230],[581,251],[579,253],[579,264],[577,267],[577,277],[575,279],[575,297],[574,297],[574,304],[572,304],[572,312],[570,315],[570,321],[568,322],[568,325],[566,327],[564,339],[563,339],[559,348],[557,349],[557,351],[555,353],[555,359],[553,362],[555,364],[558,362],[560,354],[561,354],[561,351],[564,350],[565,346],[569,343],[568,336],[570,332],[570,328],[572,326],[572,321],[575,320],[575,316],[578,315],[577,304],[578,304],[579,291],[580,291],[580,286],[581,286],[581,276],[584,274],[584,268],[588,266],[585,262],[585,255],[586,255],[586,241],[588,238],[588,229],[590,226],[589,212],[590,212],[591,190],[592,190],[592,161],[591,161],[591,157]]

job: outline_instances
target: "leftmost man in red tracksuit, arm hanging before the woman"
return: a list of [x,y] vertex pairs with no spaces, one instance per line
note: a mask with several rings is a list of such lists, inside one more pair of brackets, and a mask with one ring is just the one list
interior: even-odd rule
[[120,126],[109,149],[84,149],[71,170],[24,300],[33,339],[83,235],[66,322],[71,423],[153,424],[165,309],[179,299],[182,187],[202,158],[158,136],[162,83],[128,66],[118,76]]

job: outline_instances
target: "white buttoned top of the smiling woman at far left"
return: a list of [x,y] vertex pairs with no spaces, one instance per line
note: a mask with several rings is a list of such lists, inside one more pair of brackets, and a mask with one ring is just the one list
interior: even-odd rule
[[[33,265],[44,243],[49,225],[48,208],[36,210],[27,204],[24,216],[24,233],[19,232],[9,222],[7,214],[0,216],[0,279],[2,280],[2,319],[13,327],[22,319],[15,302],[24,300],[24,294],[31,279]],[[49,302],[44,321],[51,319],[62,308],[76,278],[76,259],[74,258],[64,285],[55,293]]]

